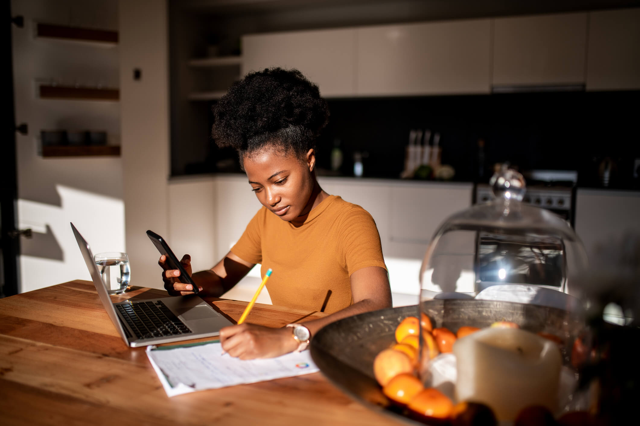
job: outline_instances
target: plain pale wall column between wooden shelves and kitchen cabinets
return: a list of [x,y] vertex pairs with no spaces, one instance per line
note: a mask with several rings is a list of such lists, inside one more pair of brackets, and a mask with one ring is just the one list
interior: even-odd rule
[[[158,287],[147,229],[169,238],[169,102],[166,0],[120,0],[120,109],[131,284]],[[142,72],[133,79],[134,68]]]

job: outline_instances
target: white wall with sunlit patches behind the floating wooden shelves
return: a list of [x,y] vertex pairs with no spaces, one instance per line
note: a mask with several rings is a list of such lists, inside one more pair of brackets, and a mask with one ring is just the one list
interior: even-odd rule
[[42,100],[36,82],[118,87],[118,48],[109,49],[35,38],[35,22],[118,29],[113,0],[12,1],[13,79],[17,123],[18,222],[33,239],[21,241],[20,291],[90,279],[69,222],[93,252],[125,250],[122,160],[116,157],[42,158],[40,130],[106,130],[109,144],[120,139],[117,102]]

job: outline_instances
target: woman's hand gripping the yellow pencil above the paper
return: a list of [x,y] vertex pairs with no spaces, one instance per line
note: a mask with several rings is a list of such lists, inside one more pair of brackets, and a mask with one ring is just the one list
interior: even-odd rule
[[240,324],[220,330],[222,349],[234,358],[275,358],[293,352],[298,342],[291,328],[269,328],[255,324]]

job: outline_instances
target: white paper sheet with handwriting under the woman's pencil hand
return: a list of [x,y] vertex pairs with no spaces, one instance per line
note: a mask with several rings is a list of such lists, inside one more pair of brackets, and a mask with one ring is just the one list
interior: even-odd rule
[[243,361],[228,354],[222,355],[218,342],[172,349],[148,346],[147,356],[170,397],[319,371],[308,351]]

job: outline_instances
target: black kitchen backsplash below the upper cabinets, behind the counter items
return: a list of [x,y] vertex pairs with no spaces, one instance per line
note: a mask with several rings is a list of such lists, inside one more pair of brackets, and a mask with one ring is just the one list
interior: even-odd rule
[[[340,140],[341,176],[353,176],[353,153],[365,151],[364,177],[399,178],[411,129],[439,132],[442,163],[454,180],[488,181],[493,164],[510,162],[522,171],[576,170],[580,186],[598,186],[598,167],[611,158],[611,187],[637,188],[634,160],[640,158],[637,120],[640,91],[508,93],[328,100],[329,125],[317,141],[318,167],[330,169],[330,153]],[[200,108],[211,111],[214,102]],[[209,129],[213,116],[209,113]],[[433,136],[432,136],[433,137]],[[484,165],[478,140],[484,139]],[[189,156],[202,152],[206,158]],[[172,140],[182,162],[172,156],[172,174],[240,172],[236,153],[209,139]],[[480,169],[484,176],[480,175]]]

